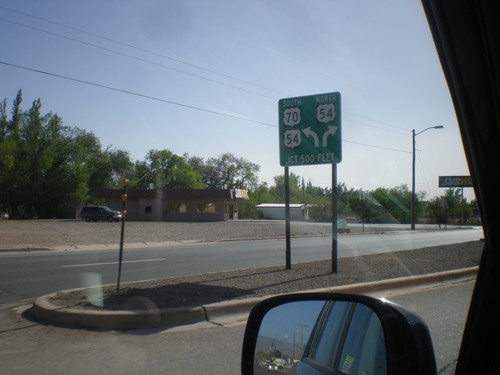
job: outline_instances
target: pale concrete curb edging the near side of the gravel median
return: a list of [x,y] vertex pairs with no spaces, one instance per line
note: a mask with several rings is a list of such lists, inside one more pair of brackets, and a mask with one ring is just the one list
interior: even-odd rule
[[[478,267],[437,272],[426,275],[400,277],[369,283],[321,288],[303,292],[336,292],[369,294],[388,289],[421,286],[429,283],[445,283],[453,280],[472,278]],[[81,289],[81,288],[80,288]],[[61,291],[59,293],[69,292]],[[128,330],[148,328],[169,328],[208,321],[224,324],[244,320],[252,307],[271,296],[223,301],[201,306],[159,309],[155,305],[143,303],[144,308],[137,310],[95,310],[81,306],[61,307],[50,302],[56,293],[36,299],[27,313],[38,321],[69,328],[87,328],[95,330]],[[144,302],[144,301],[142,301]]]

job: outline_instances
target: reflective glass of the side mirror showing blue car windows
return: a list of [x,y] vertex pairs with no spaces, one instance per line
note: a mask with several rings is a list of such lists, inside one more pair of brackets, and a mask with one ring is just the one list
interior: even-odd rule
[[345,374],[386,374],[384,334],[378,316],[347,301],[297,301],[270,310],[260,326],[254,373],[312,369]]

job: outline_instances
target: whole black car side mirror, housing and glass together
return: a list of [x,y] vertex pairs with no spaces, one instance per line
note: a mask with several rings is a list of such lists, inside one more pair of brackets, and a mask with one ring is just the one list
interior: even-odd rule
[[363,295],[272,297],[250,312],[242,374],[436,374],[426,323]]

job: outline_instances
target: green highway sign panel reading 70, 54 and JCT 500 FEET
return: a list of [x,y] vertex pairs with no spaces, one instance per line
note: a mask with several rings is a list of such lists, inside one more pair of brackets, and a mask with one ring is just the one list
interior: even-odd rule
[[278,107],[281,166],[342,161],[339,92],[281,99]]

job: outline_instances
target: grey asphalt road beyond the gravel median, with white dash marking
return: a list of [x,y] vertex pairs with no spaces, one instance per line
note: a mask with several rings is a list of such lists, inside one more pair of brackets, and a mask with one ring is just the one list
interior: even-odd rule
[[[480,230],[389,232],[339,237],[339,258],[478,240]],[[224,241],[135,248],[124,253],[122,282],[285,264],[285,241]],[[0,253],[0,302],[54,291],[112,284],[118,251]],[[292,239],[292,262],[331,259],[331,239]]]

